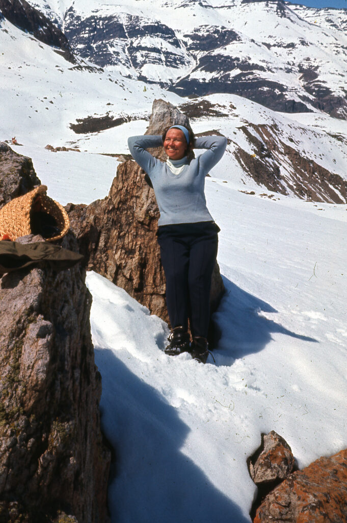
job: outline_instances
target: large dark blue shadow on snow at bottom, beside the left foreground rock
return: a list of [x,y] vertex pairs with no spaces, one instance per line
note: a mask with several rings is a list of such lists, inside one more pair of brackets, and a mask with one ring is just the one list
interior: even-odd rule
[[[112,523],[249,523],[180,451],[189,427],[176,409],[111,349],[95,349],[103,431],[116,453],[109,487]],[[230,493],[235,488],[230,480]]]

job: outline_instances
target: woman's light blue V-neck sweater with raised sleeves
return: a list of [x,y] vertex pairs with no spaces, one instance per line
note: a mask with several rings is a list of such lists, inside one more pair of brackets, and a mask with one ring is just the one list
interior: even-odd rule
[[151,179],[160,211],[158,225],[213,220],[206,207],[205,176],[223,156],[226,138],[219,136],[197,138],[194,148],[207,149],[207,151],[194,158],[180,174],[174,174],[166,163],[146,151],[149,147],[162,145],[161,136],[144,135],[128,139],[131,155]]

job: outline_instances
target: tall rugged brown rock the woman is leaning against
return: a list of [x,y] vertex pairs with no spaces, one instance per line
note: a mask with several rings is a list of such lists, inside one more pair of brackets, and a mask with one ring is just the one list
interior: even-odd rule
[[[189,122],[171,104],[155,100],[146,134],[161,134],[173,123]],[[152,152],[160,158],[165,156],[162,147]],[[165,277],[156,239],[159,210],[143,170],[134,161],[119,165],[107,198],[89,206],[68,204],[66,209],[80,252],[88,259],[87,268],[113,281],[146,305],[152,314],[168,321]],[[216,264],[212,310],[216,309],[223,291]]]

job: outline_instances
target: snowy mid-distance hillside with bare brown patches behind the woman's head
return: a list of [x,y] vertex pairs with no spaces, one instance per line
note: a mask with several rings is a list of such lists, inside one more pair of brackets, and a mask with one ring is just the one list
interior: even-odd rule
[[[182,98],[80,59],[71,64],[7,20],[0,21],[0,44],[5,49],[0,62],[6,71],[0,82],[0,137],[16,136],[19,143],[32,147],[28,154],[34,160],[45,158],[43,169],[56,173],[54,183],[58,183],[59,166],[53,153],[43,151],[45,145],[128,153],[127,137],[145,131],[153,99],[163,98],[182,108],[196,133],[213,131],[228,138],[223,174],[219,167],[213,176],[258,192],[347,201],[343,120],[318,112],[296,115],[295,122],[288,113],[228,94]],[[71,158],[77,153],[69,154]],[[71,165],[75,161],[71,158]],[[94,163],[97,160],[88,162],[86,172]],[[103,194],[97,191],[95,198]]]

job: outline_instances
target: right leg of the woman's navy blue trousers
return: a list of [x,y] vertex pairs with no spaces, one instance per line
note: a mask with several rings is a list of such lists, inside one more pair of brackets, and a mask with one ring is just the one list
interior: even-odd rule
[[217,232],[198,237],[190,246],[188,287],[190,329],[193,336],[206,338],[208,334],[211,279],[217,249]]

